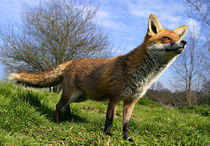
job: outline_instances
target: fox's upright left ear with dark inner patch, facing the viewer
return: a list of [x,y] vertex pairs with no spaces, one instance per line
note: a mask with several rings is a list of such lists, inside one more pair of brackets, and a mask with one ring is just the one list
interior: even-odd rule
[[149,23],[148,23],[148,35],[155,35],[161,30],[163,30],[160,22],[158,21],[157,17],[154,14],[149,16]]

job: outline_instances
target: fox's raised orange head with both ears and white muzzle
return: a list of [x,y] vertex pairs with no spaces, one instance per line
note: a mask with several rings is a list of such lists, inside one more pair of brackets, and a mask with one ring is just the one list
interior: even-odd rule
[[[163,29],[154,14],[149,16],[148,32],[145,37],[145,45],[149,52],[155,52],[163,57],[176,56],[182,53],[186,47],[186,41],[182,40],[188,30],[188,26],[181,26],[173,31]],[[169,57],[170,58],[170,57]]]

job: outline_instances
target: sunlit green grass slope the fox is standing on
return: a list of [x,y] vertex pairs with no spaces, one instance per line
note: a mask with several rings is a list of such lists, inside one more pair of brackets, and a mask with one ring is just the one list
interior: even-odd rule
[[168,108],[142,98],[130,124],[134,143],[122,139],[122,103],[112,134],[103,133],[107,102],[72,103],[72,116],[55,122],[59,95],[23,90],[0,82],[0,145],[102,144],[102,145],[208,145],[209,106]]

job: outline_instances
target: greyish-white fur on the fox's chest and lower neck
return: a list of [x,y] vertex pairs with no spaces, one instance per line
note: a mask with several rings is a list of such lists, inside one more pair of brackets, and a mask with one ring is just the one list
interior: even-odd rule
[[160,56],[148,54],[144,63],[130,73],[130,83],[124,87],[122,97],[132,97],[131,100],[141,98],[174,59],[164,61]]

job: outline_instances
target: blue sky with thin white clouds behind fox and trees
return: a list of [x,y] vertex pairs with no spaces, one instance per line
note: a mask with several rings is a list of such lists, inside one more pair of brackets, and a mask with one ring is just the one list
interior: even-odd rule
[[[0,26],[21,22],[21,6],[36,5],[37,0],[0,0]],[[149,14],[155,14],[164,28],[175,29],[182,25],[200,28],[199,22],[186,15],[184,0],[93,0],[99,10],[96,21],[111,36],[114,56],[125,54],[143,41]],[[170,68],[160,77],[165,87],[173,76]],[[6,77],[0,64],[0,80]]]

